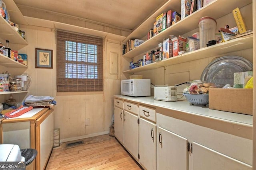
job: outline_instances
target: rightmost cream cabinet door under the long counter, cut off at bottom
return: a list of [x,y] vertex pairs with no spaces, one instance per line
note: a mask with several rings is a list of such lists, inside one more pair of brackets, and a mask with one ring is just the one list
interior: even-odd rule
[[251,170],[252,166],[216,152],[210,148],[192,143],[193,170]]

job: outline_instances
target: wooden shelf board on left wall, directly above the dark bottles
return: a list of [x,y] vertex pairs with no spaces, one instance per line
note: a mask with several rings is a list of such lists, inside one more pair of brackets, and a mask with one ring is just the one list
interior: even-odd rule
[[28,45],[28,42],[2,16],[0,16],[0,30],[1,39],[9,40],[10,43],[14,44]]

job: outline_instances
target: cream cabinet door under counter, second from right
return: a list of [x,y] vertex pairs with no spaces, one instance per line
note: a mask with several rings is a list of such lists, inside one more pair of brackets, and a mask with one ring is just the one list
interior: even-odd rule
[[157,169],[187,170],[188,140],[161,127],[157,127],[156,133],[158,134],[158,143],[156,144]]

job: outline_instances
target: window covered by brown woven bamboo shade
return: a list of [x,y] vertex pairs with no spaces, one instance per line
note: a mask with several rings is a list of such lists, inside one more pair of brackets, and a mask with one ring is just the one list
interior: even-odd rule
[[57,30],[57,92],[103,91],[103,39]]

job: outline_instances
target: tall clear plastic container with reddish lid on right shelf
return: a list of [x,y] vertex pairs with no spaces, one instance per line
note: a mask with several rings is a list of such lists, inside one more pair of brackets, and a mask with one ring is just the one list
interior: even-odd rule
[[210,17],[202,17],[199,20],[199,46],[200,49],[206,47],[208,41],[215,40],[216,20]]

